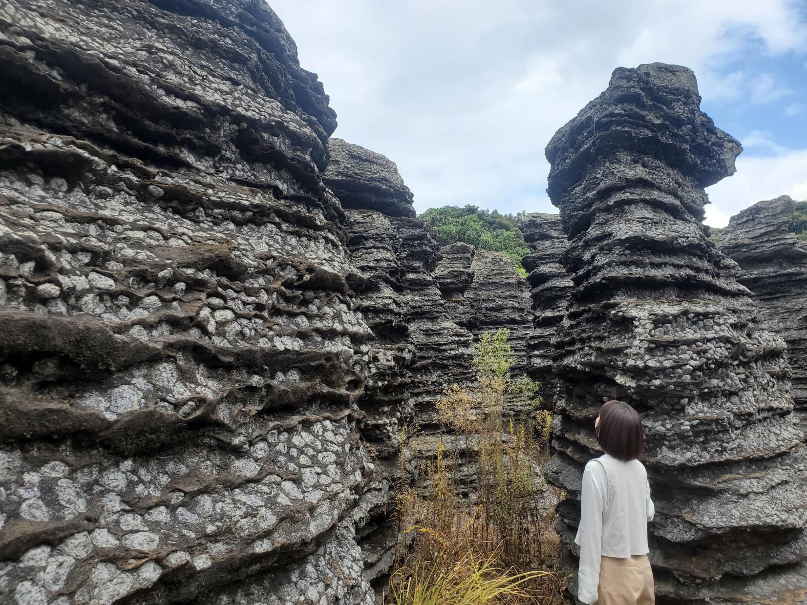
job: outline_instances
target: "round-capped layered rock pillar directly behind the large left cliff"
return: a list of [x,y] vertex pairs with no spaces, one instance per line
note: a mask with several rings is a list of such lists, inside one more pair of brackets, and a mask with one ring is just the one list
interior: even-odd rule
[[[358,400],[359,430],[394,482],[399,474],[399,434],[415,417],[433,425],[433,402],[451,382],[471,377],[471,334],[449,317],[432,275],[437,242],[412,218],[412,194],[395,164],[378,153],[329,141],[332,160],[324,183],[345,208],[353,265],[358,268],[356,309],[375,336]],[[390,480],[387,480],[389,482]],[[365,577],[379,590],[394,557],[394,494],[370,511],[361,532]]]

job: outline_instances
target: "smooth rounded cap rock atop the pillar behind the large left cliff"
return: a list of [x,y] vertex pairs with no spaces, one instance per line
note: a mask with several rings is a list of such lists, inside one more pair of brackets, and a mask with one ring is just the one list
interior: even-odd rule
[[398,167],[385,156],[341,139],[328,141],[328,156],[323,181],[342,207],[415,218],[412,191],[403,184]]

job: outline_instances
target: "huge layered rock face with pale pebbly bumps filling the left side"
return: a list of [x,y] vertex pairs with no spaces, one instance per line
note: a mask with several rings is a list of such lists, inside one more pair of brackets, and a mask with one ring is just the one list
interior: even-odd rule
[[374,335],[282,23],[41,0],[0,31],[0,601],[370,603]]

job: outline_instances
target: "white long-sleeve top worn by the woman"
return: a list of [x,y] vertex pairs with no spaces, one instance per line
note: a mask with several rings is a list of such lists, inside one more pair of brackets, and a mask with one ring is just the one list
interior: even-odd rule
[[575,542],[580,546],[578,597],[595,603],[600,583],[600,556],[646,554],[647,522],[655,507],[645,466],[604,454],[588,461],[583,470],[580,524]]

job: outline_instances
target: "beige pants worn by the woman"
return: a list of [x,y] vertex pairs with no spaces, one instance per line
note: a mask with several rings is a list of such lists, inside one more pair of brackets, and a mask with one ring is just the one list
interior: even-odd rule
[[653,605],[653,571],[647,555],[602,557],[596,605]]

